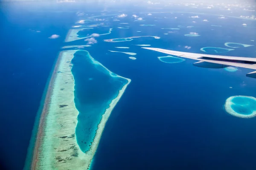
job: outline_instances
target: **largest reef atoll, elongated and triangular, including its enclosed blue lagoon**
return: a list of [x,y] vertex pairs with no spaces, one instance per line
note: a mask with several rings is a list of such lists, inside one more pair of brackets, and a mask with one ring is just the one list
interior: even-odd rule
[[130,82],[88,51],[62,51],[24,169],[89,169],[111,111]]

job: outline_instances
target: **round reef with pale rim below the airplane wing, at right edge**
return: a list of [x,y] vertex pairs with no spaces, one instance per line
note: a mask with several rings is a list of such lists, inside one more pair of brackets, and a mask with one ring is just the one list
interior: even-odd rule
[[252,96],[231,96],[227,98],[224,108],[227,113],[240,117],[256,116],[256,98]]

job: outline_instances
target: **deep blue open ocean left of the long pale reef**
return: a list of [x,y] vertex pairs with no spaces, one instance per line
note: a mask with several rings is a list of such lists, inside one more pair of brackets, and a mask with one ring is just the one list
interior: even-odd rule
[[[16,5],[0,10],[0,158],[6,169],[21,170],[41,96],[75,14],[31,12],[33,4]],[[48,39],[52,34],[61,37]]]

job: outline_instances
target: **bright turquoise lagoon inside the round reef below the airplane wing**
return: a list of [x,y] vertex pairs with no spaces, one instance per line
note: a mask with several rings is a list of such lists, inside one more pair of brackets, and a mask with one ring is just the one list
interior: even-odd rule
[[256,111],[256,100],[251,99],[246,96],[237,96],[234,97],[231,102],[231,108],[233,111],[239,114],[249,115],[252,114],[253,111]]

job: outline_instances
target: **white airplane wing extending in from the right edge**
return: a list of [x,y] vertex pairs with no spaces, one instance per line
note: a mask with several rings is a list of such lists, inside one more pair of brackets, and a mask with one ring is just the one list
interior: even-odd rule
[[[165,50],[162,48],[148,48],[142,47],[148,50],[158,51],[161,53],[195,59],[199,62],[195,62],[193,65],[203,68],[225,68],[228,66],[236,66],[242,68],[250,68],[256,70],[256,58],[250,57],[233,57],[233,56],[219,56],[219,55],[209,55],[209,54],[198,54],[198,53],[188,53],[180,51]],[[256,78],[256,71],[246,74],[247,77]]]

